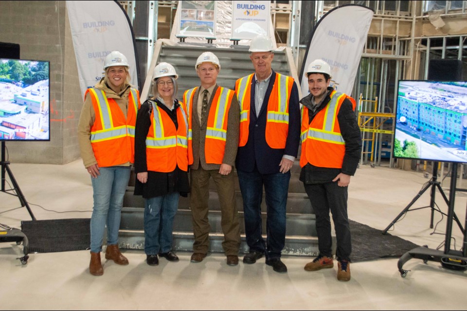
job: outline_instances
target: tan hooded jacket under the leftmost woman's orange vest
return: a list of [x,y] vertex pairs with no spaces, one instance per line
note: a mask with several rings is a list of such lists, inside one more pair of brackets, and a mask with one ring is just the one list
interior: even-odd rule
[[[95,88],[102,89],[106,92],[107,98],[112,98],[118,104],[120,109],[122,109],[123,114],[128,113],[128,94],[130,92],[130,86],[126,86],[125,91],[119,96],[111,88],[109,88],[104,80],[101,80],[98,84],[94,86]],[[91,135],[91,126],[94,124],[96,119],[96,113],[92,107],[91,96],[88,93],[84,99],[83,108],[81,109],[81,114],[79,116],[78,122],[78,141],[79,149],[81,152],[81,158],[83,159],[83,164],[86,168],[91,165],[97,164],[96,157],[92,151],[90,135]],[[123,166],[129,166],[130,162],[122,163]]]

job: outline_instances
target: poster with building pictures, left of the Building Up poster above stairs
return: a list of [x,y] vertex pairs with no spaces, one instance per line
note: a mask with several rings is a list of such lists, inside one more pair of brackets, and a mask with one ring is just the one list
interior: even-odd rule
[[216,1],[179,1],[180,36],[216,37]]

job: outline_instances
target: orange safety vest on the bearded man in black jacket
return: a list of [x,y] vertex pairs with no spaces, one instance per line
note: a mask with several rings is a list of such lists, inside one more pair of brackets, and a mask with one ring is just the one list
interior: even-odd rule
[[343,101],[348,98],[355,111],[355,100],[335,90],[331,92],[331,100],[326,108],[320,110],[311,123],[308,108],[302,106],[302,154],[300,166],[306,163],[325,168],[342,168],[345,155],[345,141],[341,135],[341,128],[337,115]]

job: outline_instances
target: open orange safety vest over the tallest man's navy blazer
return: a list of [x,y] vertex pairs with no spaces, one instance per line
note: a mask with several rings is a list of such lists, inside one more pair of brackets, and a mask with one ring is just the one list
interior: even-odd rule
[[[293,78],[275,73],[268,102],[268,118],[266,120],[266,142],[274,149],[286,147],[288,135],[288,100],[292,92]],[[235,82],[235,92],[240,104],[240,139],[239,147],[247,144],[250,126],[251,81],[254,73]]]

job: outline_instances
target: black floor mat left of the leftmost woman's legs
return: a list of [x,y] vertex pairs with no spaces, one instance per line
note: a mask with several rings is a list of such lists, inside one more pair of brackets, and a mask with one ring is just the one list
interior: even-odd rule
[[53,253],[90,248],[90,218],[22,221],[29,252]]

